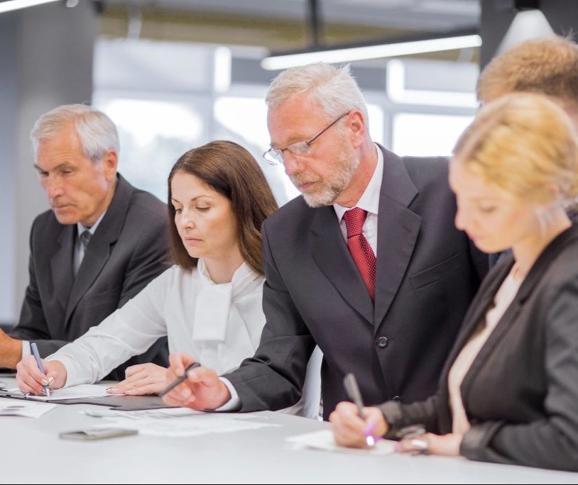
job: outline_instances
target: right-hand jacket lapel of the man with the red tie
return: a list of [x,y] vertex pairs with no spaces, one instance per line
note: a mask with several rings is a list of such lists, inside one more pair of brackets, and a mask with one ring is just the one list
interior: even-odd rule
[[375,325],[381,324],[408,269],[421,218],[408,206],[418,195],[400,157],[383,151],[377,226]]

